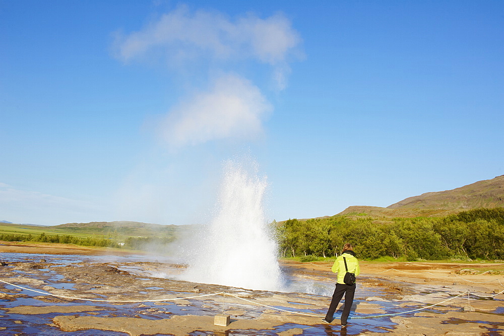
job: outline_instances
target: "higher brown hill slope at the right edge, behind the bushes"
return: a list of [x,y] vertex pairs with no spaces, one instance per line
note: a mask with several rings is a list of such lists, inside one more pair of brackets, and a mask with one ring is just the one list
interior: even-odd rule
[[504,207],[504,175],[460,188],[408,197],[388,209],[477,209]]

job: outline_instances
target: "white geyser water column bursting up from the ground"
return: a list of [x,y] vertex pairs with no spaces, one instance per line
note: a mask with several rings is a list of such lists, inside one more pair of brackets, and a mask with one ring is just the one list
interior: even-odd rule
[[183,280],[280,289],[277,244],[263,210],[268,183],[266,177],[258,177],[257,165],[251,166],[245,169],[235,161],[225,163],[217,214],[200,239],[193,242]]

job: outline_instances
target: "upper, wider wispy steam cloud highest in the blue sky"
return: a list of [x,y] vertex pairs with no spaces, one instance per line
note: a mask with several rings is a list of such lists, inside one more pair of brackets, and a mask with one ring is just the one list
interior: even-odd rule
[[290,21],[281,14],[266,19],[248,14],[232,22],[218,12],[192,13],[179,6],[140,31],[117,36],[115,52],[124,62],[163,55],[177,65],[200,57],[252,58],[273,65],[274,78],[281,78],[277,84],[283,89],[290,71],[287,58],[300,41]]

